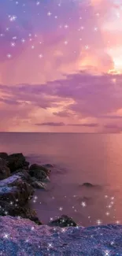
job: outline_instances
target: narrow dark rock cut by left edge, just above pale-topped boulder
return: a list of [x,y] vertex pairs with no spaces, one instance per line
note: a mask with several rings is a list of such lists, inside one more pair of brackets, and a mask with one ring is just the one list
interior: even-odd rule
[[6,166],[6,160],[0,158],[0,180],[6,179],[10,176],[9,167]]

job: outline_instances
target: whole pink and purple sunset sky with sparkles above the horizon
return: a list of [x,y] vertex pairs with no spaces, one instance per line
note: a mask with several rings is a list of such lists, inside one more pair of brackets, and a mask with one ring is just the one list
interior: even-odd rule
[[0,132],[122,132],[121,0],[0,1]]

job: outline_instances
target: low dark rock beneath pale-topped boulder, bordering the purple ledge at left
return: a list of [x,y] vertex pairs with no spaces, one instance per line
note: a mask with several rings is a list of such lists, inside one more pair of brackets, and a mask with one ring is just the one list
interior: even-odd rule
[[39,218],[36,217],[36,213],[34,210],[31,210],[27,206],[19,206],[17,204],[14,204],[12,201],[11,202],[6,202],[6,201],[0,201],[0,215],[1,216],[19,216],[22,218],[28,218],[31,221],[34,221],[36,224],[42,224],[41,221],[39,221]]

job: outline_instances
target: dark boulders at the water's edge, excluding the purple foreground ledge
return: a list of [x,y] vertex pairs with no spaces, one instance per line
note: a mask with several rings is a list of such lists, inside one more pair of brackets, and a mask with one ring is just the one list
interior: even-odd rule
[[[43,224],[36,216],[35,210],[27,205],[35,189],[45,189],[50,181],[50,168],[53,165],[30,165],[22,153],[0,153],[0,216],[28,218],[36,224]],[[60,227],[76,226],[68,216],[49,223]]]

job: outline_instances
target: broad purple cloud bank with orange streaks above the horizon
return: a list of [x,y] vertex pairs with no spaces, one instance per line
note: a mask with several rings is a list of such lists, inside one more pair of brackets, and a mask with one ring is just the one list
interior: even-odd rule
[[0,117],[4,117],[2,127],[6,127],[7,122],[9,128],[12,123],[20,128],[24,121],[29,122],[30,129],[45,125],[99,131],[102,126],[105,129],[105,121],[109,124],[111,119],[120,126],[121,84],[122,75],[98,76],[79,72],[46,85],[0,85]]

